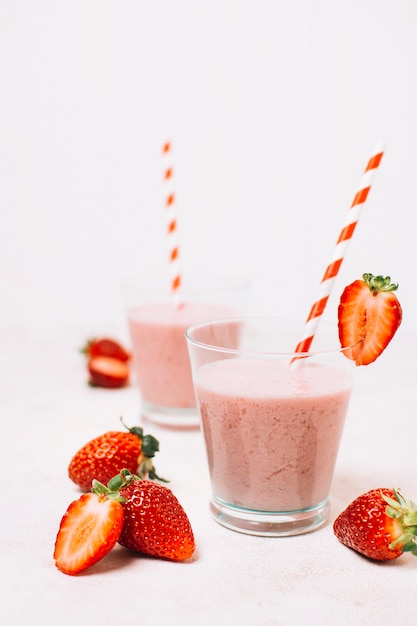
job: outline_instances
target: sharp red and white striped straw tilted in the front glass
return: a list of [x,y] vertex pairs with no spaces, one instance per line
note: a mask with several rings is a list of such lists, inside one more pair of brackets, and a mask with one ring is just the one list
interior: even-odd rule
[[304,334],[295,349],[296,352],[308,352],[310,349],[320,319],[330,297],[336,276],[345,257],[347,247],[352,239],[361,211],[368,198],[371,185],[381,163],[383,154],[384,149],[382,144],[377,144],[362,174],[358,191],[353,198],[347,220],[340,231],[339,238],[333,251],[333,256],[326,268],[326,271],[324,272],[323,278],[321,279],[317,299],[311,307],[310,313],[307,317],[304,326]]

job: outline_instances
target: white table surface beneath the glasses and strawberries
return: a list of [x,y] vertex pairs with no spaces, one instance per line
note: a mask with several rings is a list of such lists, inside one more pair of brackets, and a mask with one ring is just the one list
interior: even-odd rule
[[342,546],[331,522],[360,493],[401,487],[417,498],[416,337],[400,329],[378,362],[357,372],[327,526],[299,537],[229,531],[208,512],[201,433],[145,426],[160,441],[158,471],[192,523],[192,562],[134,557],[117,547],[78,577],[52,558],[60,519],[80,493],[67,477],[90,438],[138,422],[134,386],[92,389],[80,332],[0,332],[1,585],[4,626],[415,623],[417,559],[373,563]]

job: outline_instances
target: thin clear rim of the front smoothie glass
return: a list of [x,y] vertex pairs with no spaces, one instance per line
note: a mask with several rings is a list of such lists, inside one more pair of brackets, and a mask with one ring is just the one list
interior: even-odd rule
[[[204,341],[199,341],[198,339],[195,339],[191,336],[191,333],[193,333],[194,331],[197,331],[199,329],[202,328],[207,328],[209,326],[220,326],[221,324],[230,324],[230,323],[238,323],[238,322],[251,322],[251,321],[257,321],[257,322],[267,322],[267,321],[274,321],[274,322],[295,322],[297,321],[294,318],[289,318],[289,317],[283,317],[283,316],[276,316],[276,315],[240,315],[240,316],[233,316],[233,317],[225,317],[225,318],[220,318],[220,319],[213,319],[213,320],[206,320],[204,322],[199,322],[198,324],[192,324],[190,325],[186,331],[185,331],[185,337],[187,339],[187,341],[192,344],[195,347],[199,347],[199,348],[203,348],[205,350],[210,350],[210,351],[215,351],[221,354],[230,354],[230,355],[235,355],[235,356],[245,356],[245,357],[249,357],[249,358],[256,358],[256,357],[263,357],[263,358],[293,358],[295,359],[301,359],[301,358],[306,358],[306,357],[319,357],[319,356],[330,356],[330,355],[334,355],[334,354],[342,354],[344,356],[346,356],[347,358],[348,355],[346,354],[347,352],[351,351],[354,348],[357,348],[362,341],[358,341],[357,343],[353,344],[353,345],[349,345],[349,346],[345,346],[342,347],[340,344],[338,346],[335,346],[334,348],[328,348],[328,349],[318,349],[318,350],[306,350],[306,351],[300,351],[297,352],[295,349],[294,350],[271,350],[271,351],[266,351],[266,350],[255,350],[255,349],[249,349],[249,348],[227,348],[224,346],[219,346],[219,345],[215,345],[214,343],[207,343]],[[328,322],[328,321],[321,321],[320,325],[322,327],[327,327],[327,328],[332,328],[332,329],[337,329],[337,324],[333,323],[333,322]],[[300,336],[300,340],[301,340],[301,336]]]

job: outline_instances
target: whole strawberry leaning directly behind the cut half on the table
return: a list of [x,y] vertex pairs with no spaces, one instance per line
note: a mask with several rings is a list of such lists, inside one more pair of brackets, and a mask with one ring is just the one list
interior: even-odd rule
[[125,522],[119,543],[150,556],[183,561],[195,542],[190,521],[170,489],[128,476],[120,489]]

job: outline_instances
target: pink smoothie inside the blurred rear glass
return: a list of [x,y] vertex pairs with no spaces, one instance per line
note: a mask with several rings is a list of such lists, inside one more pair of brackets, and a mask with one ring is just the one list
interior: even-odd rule
[[131,309],[129,330],[143,400],[159,407],[195,407],[184,333],[191,324],[235,314],[233,308],[203,302],[179,308],[158,302]]

